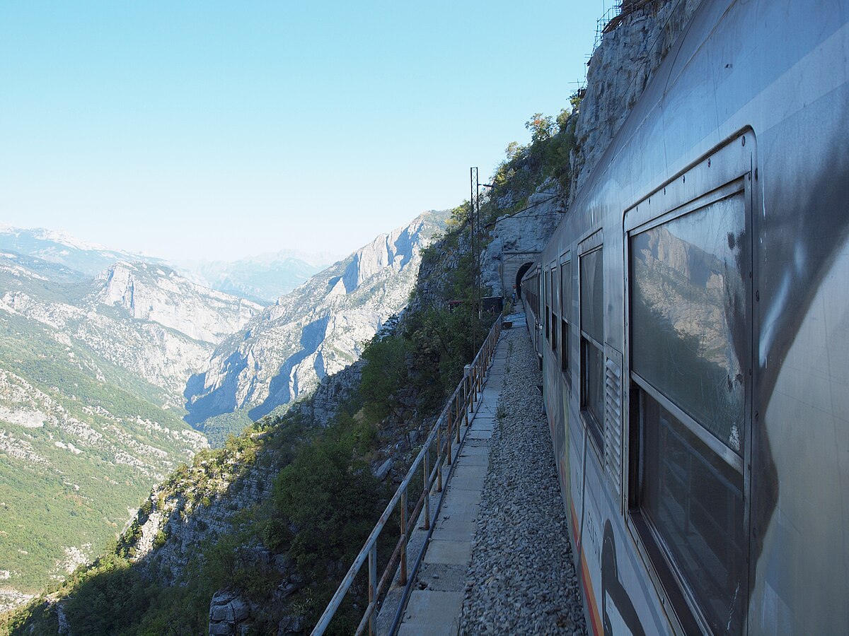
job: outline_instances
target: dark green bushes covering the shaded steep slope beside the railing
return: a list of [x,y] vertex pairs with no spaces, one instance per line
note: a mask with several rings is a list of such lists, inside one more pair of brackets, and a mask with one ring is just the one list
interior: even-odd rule
[[[568,189],[575,118],[566,111],[556,120],[535,114],[527,126],[531,143],[509,146],[492,194],[481,205],[484,228],[523,209],[547,179],[559,182],[559,196]],[[468,220],[468,203],[453,209],[444,235],[424,250],[427,284],[420,278],[402,320],[365,344],[359,388],[338,405],[331,426],[316,427],[300,410],[253,424],[243,413],[206,422],[211,441],[222,448],[203,451],[172,471],[120,540],[56,591],[71,633],[205,633],[211,597],[220,589],[261,608],[252,616],[251,633],[277,633],[278,623],[293,615],[310,628],[391,495],[391,484],[378,482],[370,466],[385,459],[386,449],[407,444],[407,432],[433,421],[475,354],[473,334],[479,346],[495,320],[479,318],[475,310],[475,298],[486,290],[472,288]],[[486,230],[481,240],[488,240]],[[77,382],[57,380],[68,381]],[[115,400],[104,397],[104,404],[117,408]],[[498,416],[500,423],[501,410]],[[248,503],[239,508],[235,497],[249,487],[252,494],[243,500]],[[412,507],[418,494],[408,497]],[[171,521],[156,534],[155,550],[140,568],[132,561],[141,526],[154,511],[170,514]],[[197,533],[183,556],[170,553],[179,534],[175,523]],[[227,524],[222,532],[212,527],[222,523]],[[395,540],[386,533],[379,568]],[[281,589],[289,591],[281,596]],[[361,575],[330,633],[353,631],[365,593]],[[55,612],[40,600],[0,617],[0,633],[4,628],[14,634],[56,633],[58,625]]]

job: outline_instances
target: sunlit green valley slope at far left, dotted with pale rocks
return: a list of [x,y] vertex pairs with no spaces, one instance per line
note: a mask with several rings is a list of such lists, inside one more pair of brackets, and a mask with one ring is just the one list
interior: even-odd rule
[[[27,408],[48,421],[36,428],[0,421],[8,444],[26,450],[23,457],[0,450],[0,569],[13,572],[14,589],[37,592],[65,575],[65,547],[97,554],[115,538],[128,507],[187,457],[188,440],[171,432],[188,425],[157,405],[160,389],[20,315],[0,315],[0,373],[7,390],[25,395]],[[146,472],[116,460],[119,449],[139,457]]]

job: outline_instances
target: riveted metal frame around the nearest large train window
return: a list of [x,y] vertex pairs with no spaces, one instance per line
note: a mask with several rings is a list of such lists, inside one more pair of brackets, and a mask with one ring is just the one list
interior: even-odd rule
[[[748,143],[747,143],[748,142]],[[712,159],[712,168],[711,168]],[[625,515],[628,533],[634,539],[638,554],[647,565],[649,578],[661,595],[665,595],[667,605],[679,622],[685,633],[711,633],[710,622],[706,613],[696,598],[694,591],[689,588],[688,575],[681,572],[672,560],[665,547],[665,539],[659,536],[652,523],[644,518],[641,508],[641,494],[644,487],[644,411],[640,405],[642,395],[654,399],[669,414],[678,419],[689,432],[705,444],[717,458],[737,471],[742,477],[742,515],[740,528],[743,538],[743,558],[748,562],[749,544],[746,538],[751,538],[751,458],[752,458],[752,427],[755,422],[753,405],[754,387],[756,386],[756,299],[753,280],[756,280],[756,209],[757,189],[752,187],[752,176],[756,165],[756,139],[751,129],[740,131],[718,149],[707,153],[691,164],[689,168],[678,173],[672,180],[666,181],[647,196],[633,204],[623,213],[624,237],[624,283],[625,283],[625,338],[626,362],[624,369],[626,416],[626,459],[625,493],[627,495],[627,513]],[[744,421],[742,431],[743,451],[740,454],[728,448],[706,427],[674,404],[666,396],[643,377],[633,371],[633,334],[631,325],[631,303],[633,298],[633,281],[631,279],[631,245],[632,237],[641,232],[661,226],[671,220],[688,215],[698,209],[715,204],[723,198],[742,196],[745,206],[745,231],[751,240],[746,246],[749,262],[748,279],[745,280],[747,299],[746,332],[748,343],[744,348],[748,358],[740,360],[741,372],[745,376]],[[654,201],[654,205],[652,205]],[[660,204],[660,205],[658,205]],[[659,214],[658,214],[659,213]],[[744,268],[744,275],[745,275]],[[748,369],[746,368],[748,366]],[[748,371],[748,373],[747,373]],[[741,569],[740,588],[748,594],[748,582],[751,572],[748,566]],[[747,599],[742,601],[744,611]],[[745,624],[745,617],[744,617]]]

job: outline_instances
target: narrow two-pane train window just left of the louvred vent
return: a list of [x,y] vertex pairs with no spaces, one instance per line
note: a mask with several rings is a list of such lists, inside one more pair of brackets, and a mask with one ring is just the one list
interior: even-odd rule
[[583,254],[581,274],[581,406],[604,449],[604,276],[601,248]]

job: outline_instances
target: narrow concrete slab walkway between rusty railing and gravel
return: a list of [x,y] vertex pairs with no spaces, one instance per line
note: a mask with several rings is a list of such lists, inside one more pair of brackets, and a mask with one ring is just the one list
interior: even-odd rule
[[[507,345],[501,340],[481,396],[475,404],[469,429],[460,429],[464,444],[459,456],[454,455],[454,474],[448,482],[445,500],[419,567],[399,634],[445,636],[458,633],[466,570],[471,562],[481,490],[489,465],[489,438],[492,437],[492,427],[497,425],[496,409],[506,359]],[[454,444],[452,452],[455,453],[456,449],[457,444]],[[409,554],[412,555],[413,551],[410,550]]]

